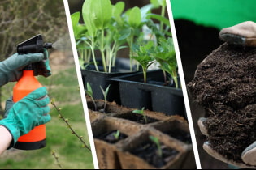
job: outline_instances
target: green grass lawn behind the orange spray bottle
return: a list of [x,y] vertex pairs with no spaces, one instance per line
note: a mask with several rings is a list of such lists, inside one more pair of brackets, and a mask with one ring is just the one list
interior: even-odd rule
[[[52,71],[49,78],[38,77],[38,80],[47,87],[50,98],[55,99],[55,104],[61,109],[63,117],[68,118],[72,129],[83,136],[89,145],[84,109],[81,103],[75,64],[59,72]],[[11,96],[15,83],[8,83],[2,87],[2,101]],[[51,107],[51,121],[46,124],[46,147],[36,151],[20,151],[11,149],[0,155],[1,169],[55,169],[59,168],[54,156],[55,151],[59,156],[59,163],[63,168],[91,169],[93,168],[92,154],[83,148],[83,143],[76,138],[65,122],[59,118],[59,113]]]

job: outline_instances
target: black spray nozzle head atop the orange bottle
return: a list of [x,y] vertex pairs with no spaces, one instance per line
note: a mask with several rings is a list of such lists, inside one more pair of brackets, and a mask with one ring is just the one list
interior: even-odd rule
[[52,43],[44,44],[43,38],[39,34],[17,45],[17,53],[44,53],[44,49],[50,48],[52,48]]

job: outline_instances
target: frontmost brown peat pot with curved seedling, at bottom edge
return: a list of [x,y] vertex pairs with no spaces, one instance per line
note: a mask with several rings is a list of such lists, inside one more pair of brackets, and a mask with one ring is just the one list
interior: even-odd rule
[[[157,147],[150,141],[150,136],[158,138],[161,143],[162,157],[158,157]],[[181,142],[166,138],[159,131],[152,129],[141,130],[140,134],[125,139],[123,143],[122,150],[117,152],[123,169],[178,169],[183,166],[187,150]]]

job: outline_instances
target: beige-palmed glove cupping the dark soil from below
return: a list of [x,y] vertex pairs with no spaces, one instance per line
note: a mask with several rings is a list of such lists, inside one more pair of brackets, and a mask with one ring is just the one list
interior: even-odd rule
[[[209,136],[208,128],[206,126],[207,118],[201,117],[198,120],[198,126],[202,134]],[[239,168],[256,168],[256,142],[246,147],[245,150],[241,153],[241,159],[244,163],[235,162],[234,160],[227,159],[224,155],[220,155],[213,147],[210,146],[210,142],[206,141],[203,144],[203,149],[215,159],[219,159],[220,161],[232,164]]]

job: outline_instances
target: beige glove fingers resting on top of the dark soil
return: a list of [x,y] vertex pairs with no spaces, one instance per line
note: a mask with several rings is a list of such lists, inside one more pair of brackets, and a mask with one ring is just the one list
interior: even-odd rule
[[219,32],[219,38],[228,44],[256,47],[256,23],[245,21]]

